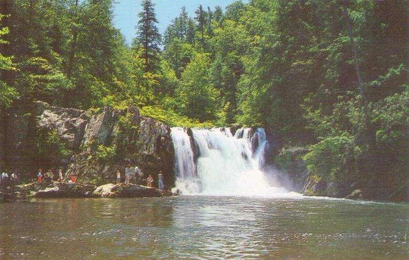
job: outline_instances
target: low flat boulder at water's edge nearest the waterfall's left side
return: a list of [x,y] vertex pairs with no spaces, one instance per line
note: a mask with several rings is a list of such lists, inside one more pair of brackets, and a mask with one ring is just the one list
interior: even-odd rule
[[94,196],[101,197],[162,197],[173,195],[170,191],[159,190],[152,187],[145,187],[135,184],[105,184],[99,186],[94,191]]

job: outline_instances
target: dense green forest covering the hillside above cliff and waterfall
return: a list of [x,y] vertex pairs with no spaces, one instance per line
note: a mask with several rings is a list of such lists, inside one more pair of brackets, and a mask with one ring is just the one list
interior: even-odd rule
[[3,0],[2,106],[136,105],[170,126],[263,126],[281,148],[307,148],[311,178],[408,185],[406,0],[182,7],[163,35],[144,0],[130,46],[113,3]]

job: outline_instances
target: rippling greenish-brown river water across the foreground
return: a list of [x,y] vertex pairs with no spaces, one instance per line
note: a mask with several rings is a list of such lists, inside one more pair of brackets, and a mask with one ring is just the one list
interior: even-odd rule
[[409,259],[409,204],[302,196],[32,199],[0,204],[0,221],[2,260]]

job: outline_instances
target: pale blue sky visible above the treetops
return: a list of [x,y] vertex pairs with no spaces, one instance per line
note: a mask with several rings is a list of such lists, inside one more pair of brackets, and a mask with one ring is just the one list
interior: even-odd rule
[[[114,9],[115,27],[121,30],[127,43],[135,37],[135,25],[138,22],[138,13],[141,12],[141,0],[116,0]],[[235,0],[152,0],[155,4],[156,19],[158,20],[159,33],[163,34],[171,20],[179,16],[180,8],[186,6],[186,11],[190,17],[195,16],[195,10],[202,5],[206,10],[209,6],[214,10],[215,6],[224,8],[235,2]],[[247,3],[248,0],[243,0]]]

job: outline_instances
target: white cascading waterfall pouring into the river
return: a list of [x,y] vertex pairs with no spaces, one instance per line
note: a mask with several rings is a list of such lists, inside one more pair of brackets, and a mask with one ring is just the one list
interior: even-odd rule
[[263,172],[268,147],[263,128],[174,127],[175,188],[182,194],[229,196],[301,196],[271,183]]

